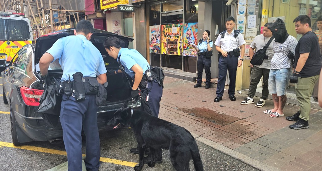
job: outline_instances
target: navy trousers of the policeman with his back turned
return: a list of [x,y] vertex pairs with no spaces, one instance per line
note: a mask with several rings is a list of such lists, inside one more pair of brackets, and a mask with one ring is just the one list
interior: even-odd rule
[[[67,99],[67,95],[63,95],[63,99]],[[82,170],[82,126],[86,136],[86,169],[88,171],[99,169],[100,146],[96,112],[95,95],[86,95],[86,99],[82,102],[77,102],[72,96],[62,101],[60,121],[69,171]]]

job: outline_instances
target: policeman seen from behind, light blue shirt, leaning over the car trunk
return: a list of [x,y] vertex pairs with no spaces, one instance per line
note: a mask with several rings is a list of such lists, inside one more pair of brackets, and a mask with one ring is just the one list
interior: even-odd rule
[[[58,39],[39,61],[42,77],[48,74],[49,64],[59,59],[63,69],[61,82],[73,82],[72,75],[81,72],[83,76],[94,77],[94,80],[98,75],[97,81],[100,84],[105,83],[107,71],[101,53],[90,42],[92,32],[93,25],[89,21],[81,20],[74,30],[75,36]],[[69,85],[66,84],[67,87]],[[62,96],[60,121],[67,152],[68,170],[82,170],[81,131],[83,126],[86,136],[86,169],[97,171],[100,166],[100,146],[95,95],[86,94],[82,101],[76,101],[75,94],[67,95],[67,89],[64,89],[64,92],[65,90],[66,94]]]

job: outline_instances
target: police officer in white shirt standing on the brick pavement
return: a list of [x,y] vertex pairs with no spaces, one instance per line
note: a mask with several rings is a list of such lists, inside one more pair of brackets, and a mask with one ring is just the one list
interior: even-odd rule
[[[214,102],[222,100],[227,69],[230,80],[228,95],[231,101],[236,100],[235,87],[237,66],[242,66],[246,41],[242,37],[242,34],[240,34],[239,30],[233,30],[234,27],[235,19],[233,17],[228,17],[226,20],[227,31],[221,32],[215,41],[216,50],[219,52],[219,77],[216,92],[217,97],[213,100]],[[240,60],[238,60],[239,55],[241,56]]]

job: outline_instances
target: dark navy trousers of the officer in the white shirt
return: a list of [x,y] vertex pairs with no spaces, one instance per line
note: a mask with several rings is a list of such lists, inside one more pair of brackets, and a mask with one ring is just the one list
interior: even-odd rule
[[223,97],[223,91],[225,89],[225,82],[227,77],[227,69],[230,80],[228,95],[235,95],[237,65],[238,58],[234,55],[230,54],[227,57],[223,57],[223,55],[220,56],[218,63],[219,77],[216,92],[217,96]]

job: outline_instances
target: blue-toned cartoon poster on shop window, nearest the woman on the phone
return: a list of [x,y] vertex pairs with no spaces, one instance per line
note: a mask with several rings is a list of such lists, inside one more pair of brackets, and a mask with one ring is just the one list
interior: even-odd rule
[[184,56],[197,56],[197,51],[191,45],[198,45],[198,23],[185,23],[185,34],[184,34]]

